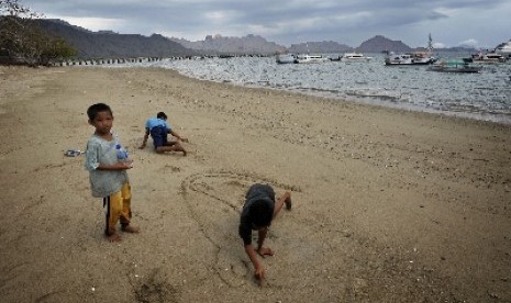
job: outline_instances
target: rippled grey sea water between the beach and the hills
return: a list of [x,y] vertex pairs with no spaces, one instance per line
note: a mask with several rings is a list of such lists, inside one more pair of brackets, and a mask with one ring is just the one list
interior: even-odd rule
[[[457,58],[469,54],[436,54]],[[336,55],[331,55],[335,57]],[[429,71],[426,66],[370,61],[278,65],[275,57],[164,59],[141,63],[203,80],[273,88],[511,124],[511,63],[484,65],[479,74]],[[133,64],[132,64],[133,65]]]

